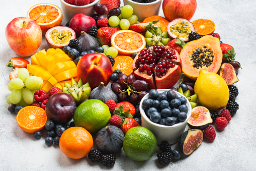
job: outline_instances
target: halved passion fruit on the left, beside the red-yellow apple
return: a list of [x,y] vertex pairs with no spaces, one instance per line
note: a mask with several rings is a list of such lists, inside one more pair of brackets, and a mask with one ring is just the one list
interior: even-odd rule
[[69,40],[75,39],[75,32],[69,27],[56,26],[47,30],[45,38],[49,47],[63,49],[69,44]]

